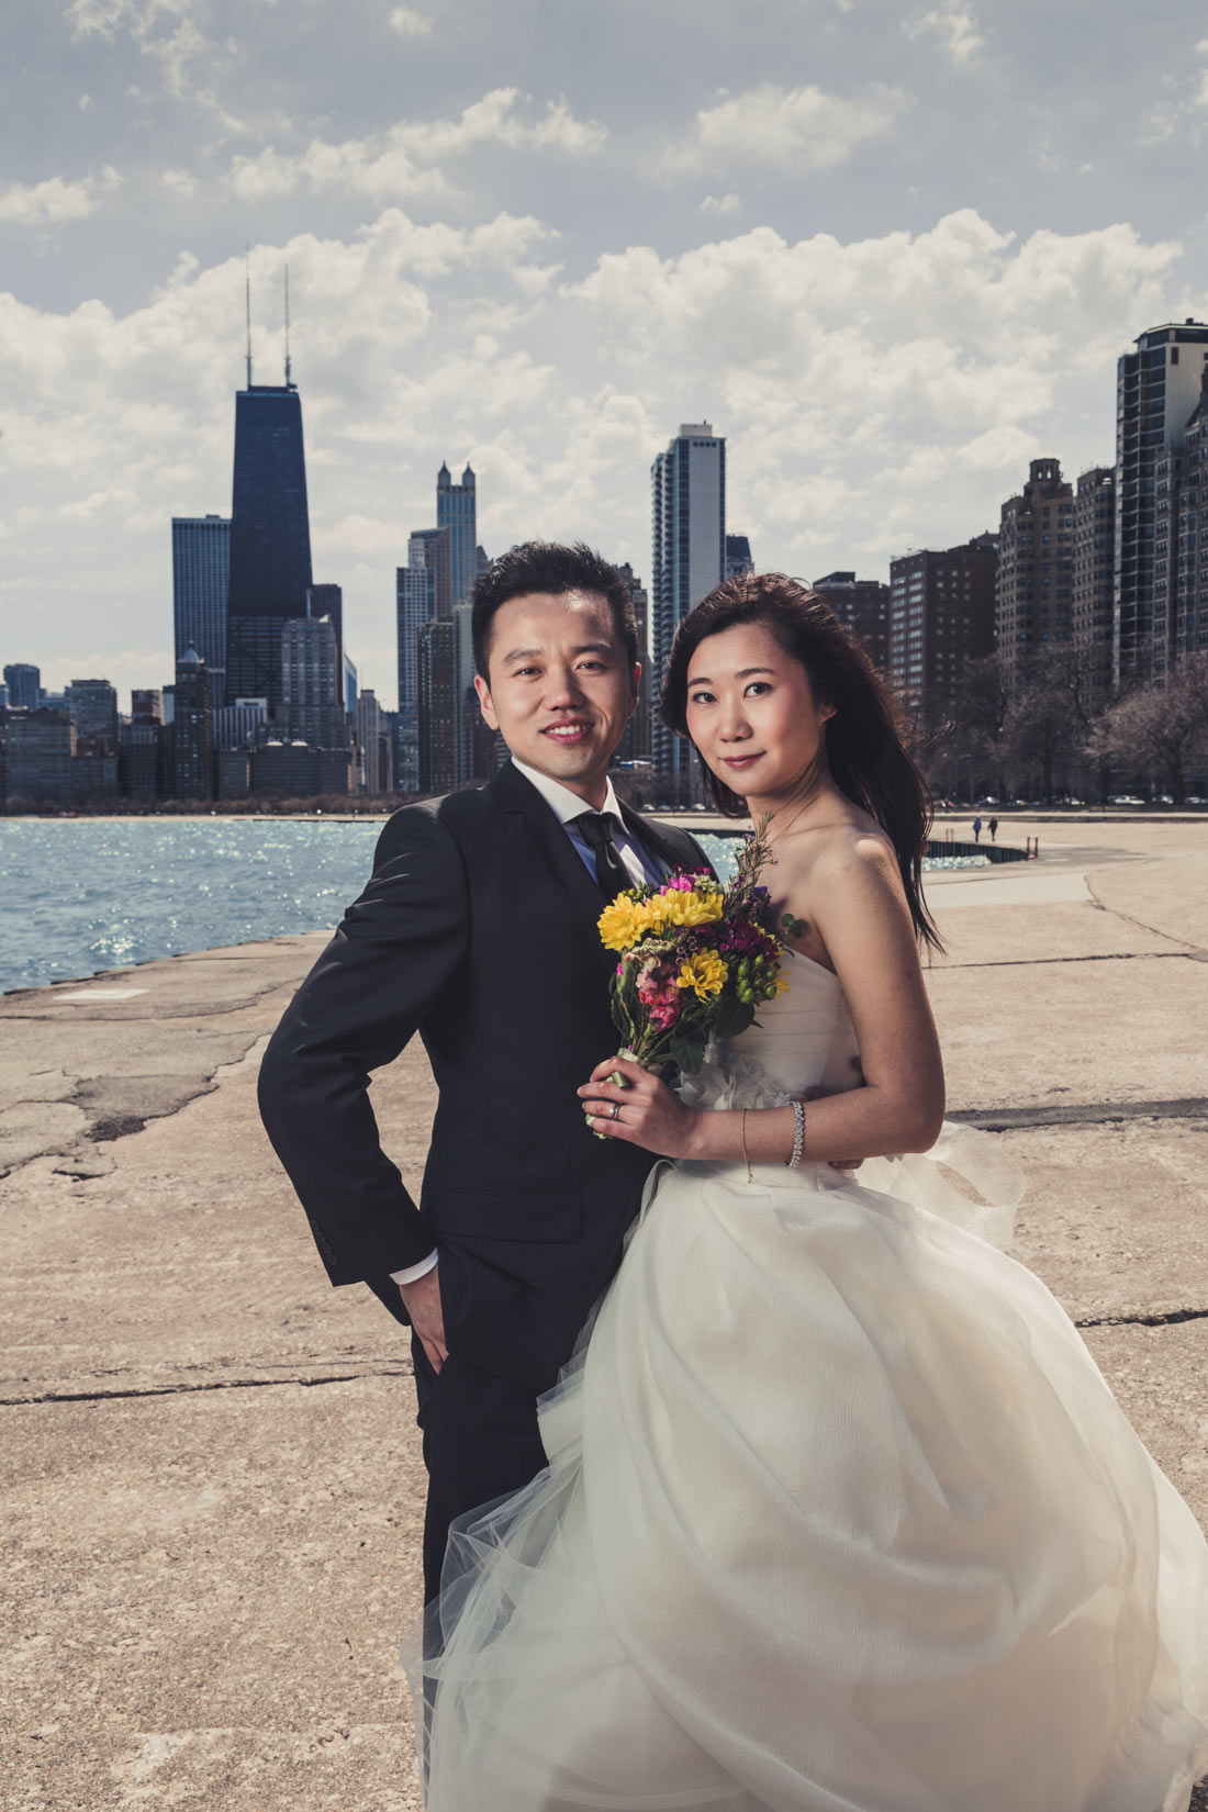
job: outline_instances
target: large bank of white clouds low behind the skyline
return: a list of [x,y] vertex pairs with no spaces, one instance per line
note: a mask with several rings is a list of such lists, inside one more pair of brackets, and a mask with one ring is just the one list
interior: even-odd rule
[[[992,525],[1029,458],[1110,458],[1117,353],[1203,308],[1179,248],[1125,225],[1016,239],[965,210],[849,243],[762,226],[677,257],[630,246],[574,283],[552,277],[554,237],[529,216],[455,228],[391,207],[346,239],[254,248],[255,373],[281,371],[288,257],[315,574],[346,585],[351,652],[386,701],[393,567],[442,458],[473,462],[491,553],[585,535],[648,576],[650,458],[705,417],[761,565],[877,576],[906,545]],[[243,259],[183,255],[130,313],[4,295],[0,366],[0,600],[40,605],[20,658],[47,685],[83,670],[98,611],[114,647],[163,651],[168,518],[228,507]],[[123,683],[165,678],[149,654]]]

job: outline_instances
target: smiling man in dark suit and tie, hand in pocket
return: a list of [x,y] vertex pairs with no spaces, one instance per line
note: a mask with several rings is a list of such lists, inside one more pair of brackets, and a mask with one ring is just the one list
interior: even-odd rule
[[[609,779],[639,676],[614,567],[583,545],[513,547],[475,585],[473,638],[482,714],[513,759],[482,792],[389,819],[259,1084],[331,1283],[368,1283],[411,1325],[426,1598],[449,1522],[545,1464],[536,1395],[616,1270],[654,1161],[594,1140],[574,1093],[616,1049],[596,919],[621,888],[708,866]],[[417,1031],[438,1087],[418,1207],[369,1105],[369,1071]]]

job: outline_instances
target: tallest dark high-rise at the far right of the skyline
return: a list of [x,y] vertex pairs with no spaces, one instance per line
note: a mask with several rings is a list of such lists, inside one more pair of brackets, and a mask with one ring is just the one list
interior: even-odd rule
[[1206,361],[1208,324],[1188,319],[1148,328],[1116,366],[1112,669],[1117,689],[1166,672],[1170,587],[1155,596],[1155,467],[1163,449],[1183,448]]

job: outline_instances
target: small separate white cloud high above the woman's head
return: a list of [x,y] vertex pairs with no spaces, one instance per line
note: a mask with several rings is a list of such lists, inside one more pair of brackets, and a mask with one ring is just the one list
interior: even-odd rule
[[862,100],[810,87],[764,82],[697,112],[692,136],[668,147],[665,167],[690,174],[733,159],[781,169],[829,170],[868,140],[891,129],[902,111],[898,89],[875,85]]

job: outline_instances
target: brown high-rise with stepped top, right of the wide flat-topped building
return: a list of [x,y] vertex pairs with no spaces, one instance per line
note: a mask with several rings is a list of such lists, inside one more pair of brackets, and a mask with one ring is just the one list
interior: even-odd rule
[[1009,694],[1041,647],[1074,638],[1074,487],[1056,458],[1034,458],[1002,506],[994,641]]

